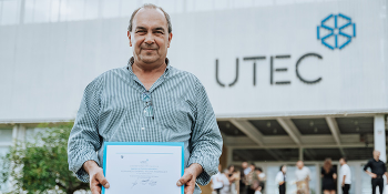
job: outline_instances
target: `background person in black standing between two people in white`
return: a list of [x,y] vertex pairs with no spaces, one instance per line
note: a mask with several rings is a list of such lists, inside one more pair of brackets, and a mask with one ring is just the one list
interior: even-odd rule
[[337,173],[331,165],[331,159],[326,159],[324,166],[320,169],[320,176],[323,177],[323,191],[324,194],[336,194]]

